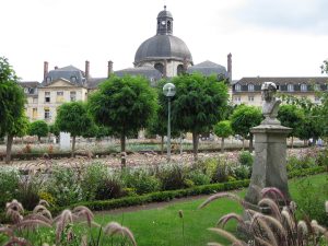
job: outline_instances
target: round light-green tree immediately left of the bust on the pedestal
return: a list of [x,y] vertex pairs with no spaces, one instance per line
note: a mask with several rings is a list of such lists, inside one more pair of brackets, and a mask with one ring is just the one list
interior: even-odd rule
[[253,133],[250,128],[260,125],[263,119],[262,113],[258,107],[239,105],[231,115],[231,125],[235,133],[244,139],[249,139],[249,150],[253,151]]

